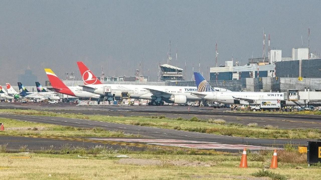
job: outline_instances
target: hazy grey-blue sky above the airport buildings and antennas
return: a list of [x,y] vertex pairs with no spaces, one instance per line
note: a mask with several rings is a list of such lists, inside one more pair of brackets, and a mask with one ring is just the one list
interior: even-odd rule
[[263,28],[282,56],[301,47],[301,35],[307,46],[310,28],[311,52],[320,53],[320,9],[321,1],[0,1],[0,84],[15,85],[28,66],[41,83],[44,68],[65,77],[78,72],[76,61],[96,74],[103,66],[108,76],[134,76],[143,53],[143,73],[156,80],[169,40],[174,60],[178,42],[172,64],[187,61],[187,79],[199,56],[208,78],[216,41],[219,64],[232,55],[244,64],[262,57]]

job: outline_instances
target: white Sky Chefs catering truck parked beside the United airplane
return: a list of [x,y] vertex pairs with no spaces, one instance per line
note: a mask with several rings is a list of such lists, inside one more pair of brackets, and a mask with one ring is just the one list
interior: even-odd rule
[[257,100],[250,104],[250,110],[280,110],[285,105],[285,101],[281,100]]

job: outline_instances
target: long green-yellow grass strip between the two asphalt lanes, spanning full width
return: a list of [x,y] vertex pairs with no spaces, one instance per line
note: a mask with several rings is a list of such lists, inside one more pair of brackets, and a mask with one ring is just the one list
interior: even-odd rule
[[238,137],[289,139],[321,138],[321,131],[319,129],[279,129],[271,125],[265,127],[258,127],[253,125],[245,126],[240,123],[226,123],[222,119],[198,119],[196,117],[192,117],[191,119],[168,119],[163,115],[152,117],[118,117],[104,115],[83,115],[80,113],[56,113],[37,110],[0,110],[0,112],[48,117],[89,119],[95,121],[131,124],[137,126],[160,127],[167,129]]

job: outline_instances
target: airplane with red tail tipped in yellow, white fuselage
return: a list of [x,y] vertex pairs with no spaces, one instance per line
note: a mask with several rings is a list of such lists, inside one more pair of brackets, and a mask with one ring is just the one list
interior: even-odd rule
[[79,90],[78,86],[66,86],[62,82],[62,80],[60,80],[51,69],[45,69],[45,72],[52,86],[52,87],[48,87],[48,89],[51,91],[55,91],[57,93],[67,94],[67,95],[79,97],[79,98],[93,98],[93,99],[100,98],[99,94],[94,94],[87,91]]

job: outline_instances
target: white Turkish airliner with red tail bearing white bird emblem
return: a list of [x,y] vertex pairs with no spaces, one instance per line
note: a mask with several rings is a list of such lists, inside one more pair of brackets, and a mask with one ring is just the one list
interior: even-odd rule
[[[202,98],[191,93],[197,92],[191,86],[152,86],[129,84],[102,84],[100,80],[81,62],[77,62],[84,82],[80,90],[100,94],[106,98],[121,98],[124,94],[133,99],[152,100],[152,104],[161,105],[163,102],[184,104],[187,101],[201,101]],[[211,88],[211,91],[229,91],[223,88]]]

